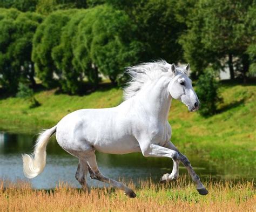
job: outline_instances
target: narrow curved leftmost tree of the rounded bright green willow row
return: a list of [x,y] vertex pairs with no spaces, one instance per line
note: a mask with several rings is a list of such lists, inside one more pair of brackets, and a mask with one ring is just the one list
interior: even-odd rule
[[37,76],[46,87],[56,83],[53,73],[59,77],[61,71],[52,58],[52,50],[60,44],[63,27],[77,10],[64,10],[51,13],[39,25],[33,37],[32,61],[35,63]]

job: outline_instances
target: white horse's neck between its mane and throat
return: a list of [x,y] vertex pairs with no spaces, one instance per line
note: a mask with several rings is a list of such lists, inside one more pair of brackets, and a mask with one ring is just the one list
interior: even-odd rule
[[171,95],[168,91],[168,79],[160,79],[157,82],[145,86],[138,95],[139,102],[144,112],[159,121],[166,121],[171,106]]

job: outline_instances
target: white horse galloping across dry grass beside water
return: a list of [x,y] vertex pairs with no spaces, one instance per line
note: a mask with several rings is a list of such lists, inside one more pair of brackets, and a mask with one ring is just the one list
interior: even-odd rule
[[171,174],[164,174],[160,182],[176,180],[179,162],[187,168],[197,184],[199,194],[207,194],[198,175],[186,156],[170,141],[171,126],[168,113],[172,99],[182,101],[189,111],[197,111],[199,100],[188,78],[189,64],[185,68],[166,61],[144,63],[127,69],[131,76],[124,89],[125,100],[117,107],[83,109],[66,115],[38,138],[32,155],[23,155],[23,170],[28,178],[43,172],[46,163],[46,145],[56,133],[60,147],[79,159],[76,179],[87,187],[86,175],[91,179],[111,184],[136,197],[132,189],[100,173],[95,151],[110,154],[141,152],[145,157],[167,157],[173,160]]

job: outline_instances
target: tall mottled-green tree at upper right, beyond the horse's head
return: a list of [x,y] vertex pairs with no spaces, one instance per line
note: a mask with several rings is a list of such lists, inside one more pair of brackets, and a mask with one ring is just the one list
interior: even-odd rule
[[231,0],[204,0],[194,5],[186,19],[187,33],[180,38],[192,70],[202,66],[199,73],[203,73],[207,63],[217,70],[228,66],[231,78],[239,74],[245,78],[249,66],[246,50],[253,42],[253,32],[248,31],[253,17],[248,25],[246,18],[253,5],[253,1]]

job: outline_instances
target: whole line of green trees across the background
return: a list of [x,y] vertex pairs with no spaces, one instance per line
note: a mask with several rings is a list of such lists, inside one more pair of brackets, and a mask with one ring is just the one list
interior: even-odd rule
[[256,73],[256,6],[231,0],[0,0],[0,84],[59,86],[123,80],[126,66],[163,58],[243,78]]

